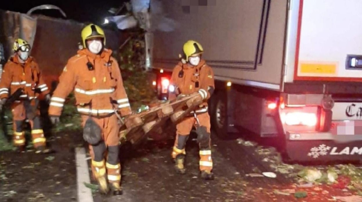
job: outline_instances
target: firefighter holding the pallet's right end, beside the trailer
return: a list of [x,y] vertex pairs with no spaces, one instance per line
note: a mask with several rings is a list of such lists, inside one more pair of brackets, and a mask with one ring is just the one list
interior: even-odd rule
[[172,90],[174,94],[192,94],[199,92],[203,103],[195,109],[189,117],[184,118],[176,125],[176,140],[174,143],[172,158],[175,160],[175,168],[178,173],[185,173],[185,144],[193,126],[197,129],[198,143],[200,147],[199,168],[201,177],[209,180],[214,179],[212,170],[211,147],[210,147],[210,116],[208,113],[207,100],[214,91],[214,73],[210,66],[201,59],[203,48],[194,40],[189,40],[183,47],[184,55],[171,76]]

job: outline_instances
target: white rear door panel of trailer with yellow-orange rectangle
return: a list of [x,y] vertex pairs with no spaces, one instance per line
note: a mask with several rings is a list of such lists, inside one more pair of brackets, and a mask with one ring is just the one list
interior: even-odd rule
[[362,78],[361,70],[346,69],[348,54],[362,55],[361,7],[361,0],[303,1],[299,77]]

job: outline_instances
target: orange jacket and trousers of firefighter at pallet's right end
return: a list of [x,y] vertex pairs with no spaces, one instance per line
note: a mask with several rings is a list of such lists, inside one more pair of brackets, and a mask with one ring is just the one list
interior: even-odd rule
[[[183,72],[183,73],[180,73]],[[214,73],[210,66],[201,60],[197,66],[190,64],[178,63],[173,69],[171,76],[171,85],[177,86],[179,93],[192,94],[199,92],[204,99],[204,102],[199,105],[198,109],[184,118],[176,125],[176,140],[174,143],[172,158],[177,158],[178,155],[185,155],[185,144],[190,134],[191,129],[195,124],[194,113],[197,115],[199,127],[204,127],[207,134],[203,134],[202,139],[198,138],[200,147],[200,162],[199,168],[201,171],[212,170],[211,148],[210,148],[210,116],[208,113],[207,100],[214,91]],[[176,89],[177,89],[176,88]]]

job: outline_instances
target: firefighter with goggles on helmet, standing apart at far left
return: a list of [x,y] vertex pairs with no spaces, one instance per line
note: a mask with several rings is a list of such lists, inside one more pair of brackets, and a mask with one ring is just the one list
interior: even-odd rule
[[[0,81],[0,110],[10,93],[19,97],[11,103],[13,114],[13,143],[19,151],[25,150],[25,134],[22,124],[28,118],[31,126],[31,137],[36,153],[47,152],[46,139],[39,118],[38,96],[45,95],[50,100],[49,89],[43,81],[38,64],[29,56],[30,44],[24,39],[14,42],[14,56],[5,64]],[[15,93],[17,92],[17,93]]]

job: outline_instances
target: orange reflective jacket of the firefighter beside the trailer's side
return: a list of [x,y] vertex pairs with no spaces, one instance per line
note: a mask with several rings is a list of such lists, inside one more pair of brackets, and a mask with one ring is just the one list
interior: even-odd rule
[[199,92],[205,102],[195,112],[207,112],[207,100],[214,92],[215,84],[214,72],[205,60],[201,60],[197,66],[179,62],[172,71],[170,84],[176,86],[176,89],[178,87],[178,93],[181,94]]

